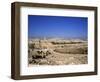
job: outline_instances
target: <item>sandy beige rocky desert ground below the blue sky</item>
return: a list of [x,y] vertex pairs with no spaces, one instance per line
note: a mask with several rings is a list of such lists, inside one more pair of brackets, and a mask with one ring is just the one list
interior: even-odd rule
[[33,65],[87,64],[87,41],[31,39],[28,43],[28,62]]

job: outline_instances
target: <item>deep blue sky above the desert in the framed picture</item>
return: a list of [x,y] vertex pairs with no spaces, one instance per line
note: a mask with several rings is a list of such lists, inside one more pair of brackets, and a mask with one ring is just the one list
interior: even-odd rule
[[87,38],[86,17],[28,15],[28,37]]

